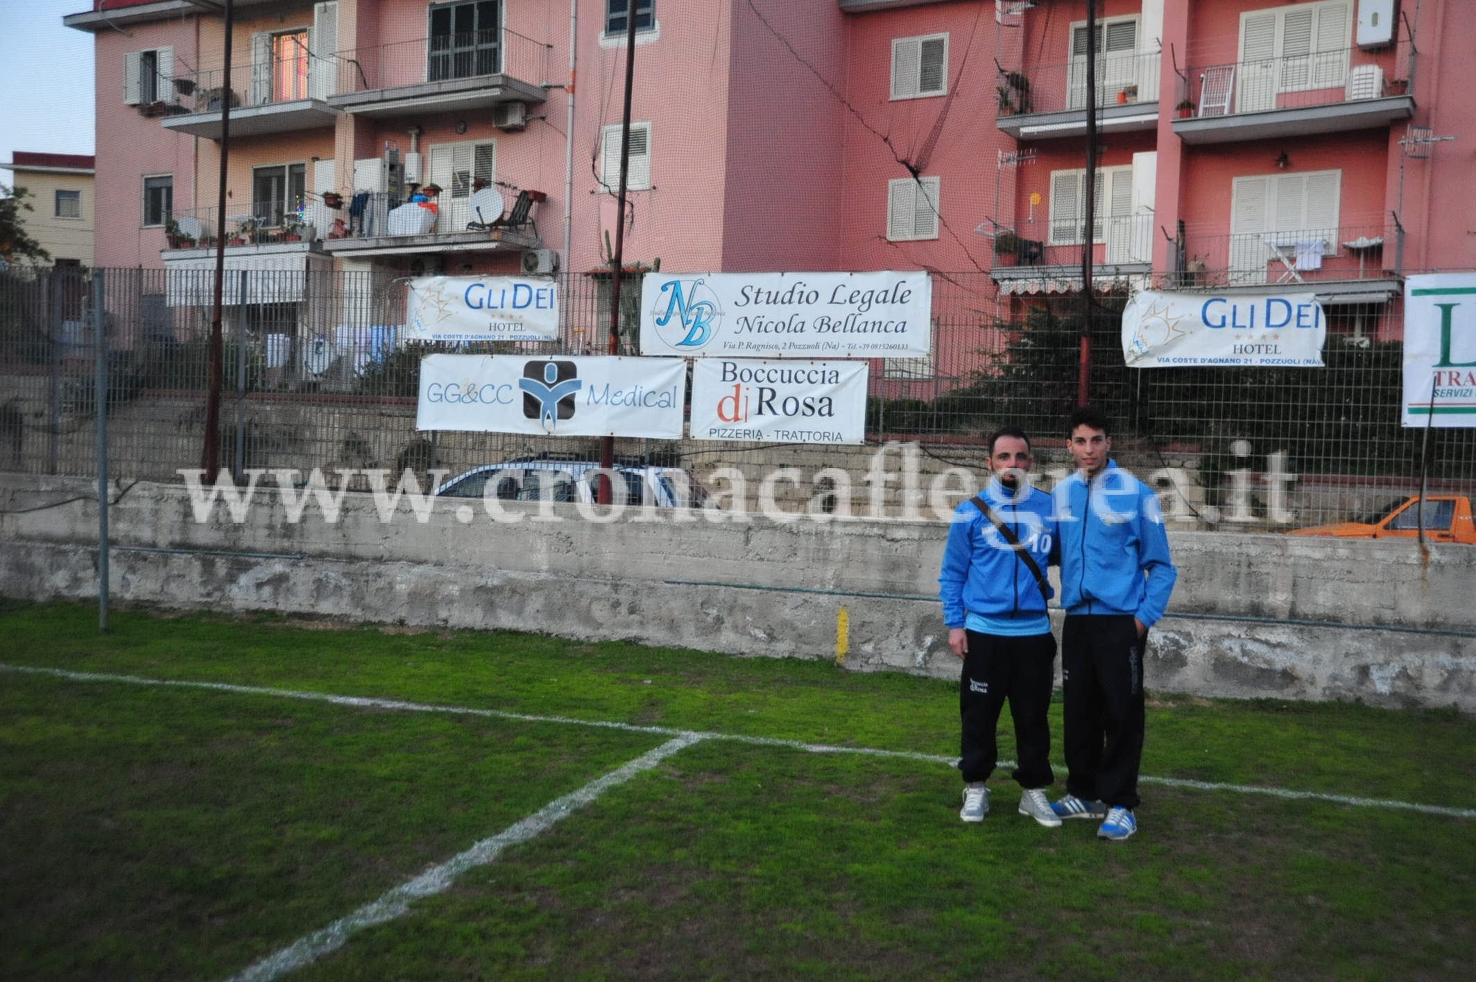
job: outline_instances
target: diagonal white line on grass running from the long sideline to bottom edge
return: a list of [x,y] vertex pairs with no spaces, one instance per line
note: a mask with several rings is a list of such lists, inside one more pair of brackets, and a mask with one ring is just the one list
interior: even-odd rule
[[700,740],[701,737],[698,734],[688,734],[675,740],[667,740],[655,750],[641,755],[635,760],[630,760],[624,766],[617,768],[604,777],[595,778],[577,792],[554,799],[527,818],[508,825],[496,836],[483,839],[471,849],[452,856],[440,865],[431,867],[413,880],[406,880],[400,886],[388,890],[379,899],[365,904],[347,917],[339,917],[328,927],[314,930],[310,935],[303,935],[286,948],[282,948],[276,954],[257,961],[241,975],[232,976],[230,982],[267,982],[269,979],[276,979],[288,972],[301,969],[331,951],[342,948],[344,942],[347,942],[351,935],[363,930],[365,927],[382,924],[387,920],[394,920],[396,917],[407,914],[413,901],[422,896],[432,896],[444,892],[450,887],[456,877],[466,870],[487,865],[508,846],[533,839],[551,825],[567,818],[574,812],[574,809],[590,803],[610,789],[617,784],[624,784],[642,771],[649,771],[677,750],[683,750]]

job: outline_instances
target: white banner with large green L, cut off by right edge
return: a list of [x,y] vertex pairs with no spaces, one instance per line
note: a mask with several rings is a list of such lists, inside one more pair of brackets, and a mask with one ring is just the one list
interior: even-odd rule
[[1476,427],[1476,273],[1404,281],[1407,427]]

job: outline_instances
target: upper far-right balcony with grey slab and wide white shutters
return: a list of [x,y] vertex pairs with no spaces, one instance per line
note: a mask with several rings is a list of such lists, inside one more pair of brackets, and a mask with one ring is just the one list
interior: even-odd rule
[[1339,49],[1190,69],[1185,143],[1234,143],[1387,127],[1414,115],[1405,92],[1410,43],[1393,50]]

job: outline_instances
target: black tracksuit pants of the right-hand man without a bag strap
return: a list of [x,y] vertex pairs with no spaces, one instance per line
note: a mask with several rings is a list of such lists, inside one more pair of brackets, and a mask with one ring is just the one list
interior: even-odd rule
[[1061,631],[1066,790],[1108,808],[1138,806],[1142,650],[1132,614],[1067,614]]

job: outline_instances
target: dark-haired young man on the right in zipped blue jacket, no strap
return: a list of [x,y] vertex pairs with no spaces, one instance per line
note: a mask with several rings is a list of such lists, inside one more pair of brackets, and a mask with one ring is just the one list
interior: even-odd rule
[[1067,794],[1060,818],[1104,818],[1097,836],[1138,831],[1142,651],[1178,571],[1157,495],[1110,458],[1107,418],[1067,422],[1076,473],[1055,486],[1061,536],[1061,687]]

